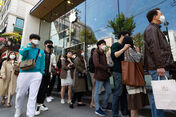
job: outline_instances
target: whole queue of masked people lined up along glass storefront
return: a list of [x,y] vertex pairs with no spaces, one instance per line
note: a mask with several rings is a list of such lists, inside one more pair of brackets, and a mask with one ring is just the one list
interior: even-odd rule
[[[112,111],[113,117],[120,117],[119,107],[123,116],[138,117],[139,109],[149,105],[147,92],[144,86],[136,87],[123,84],[122,82],[122,61],[139,63],[144,61],[144,69],[149,72],[152,80],[158,76],[164,79],[169,77],[169,65],[173,63],[171,49],[166,37],[160,30],[160,24],[164,22],[164,16],[159,8],[147,13],[149,25],[144,32],[145,50],[144,55],[139,48],[134,46],[133,38],[128,31],[121,31],[117,42],[111,46],[110,58],[113,66],[109,65],[106,56],[106,41],[99,40],[97,48],[91,50],[89,61],[85,60],[83,50],[72,52],[67,51],[65,56],[56,56],[52,53],[53,42],[46,40],[45,49],[41,50],[38,45],[40,36],[31,34],[26,47],[19,49],[22,56],[21,62],[32,60],[32,68],[20,66],[16,53],[9,52],[1,67],[0,96],[1,104],[7,103],[11,107],[11,99],[16,92],[15,115],[22,114],[23,101],[28,93],[27,111],[28,117],[40,115],[41,111],[47,111],[45,100],[51,102],[54,98],[51,92],[56,78],[58,78],[58,91],[61,91],[61,104],[65,104],[65,92],[68,91],[67,103],[69,108],[86,106],[82,97],[87,91],[87,76],[91,76],[92,95],[90,107],[95,108],[95,114],[106,116],[106,111]],[[30,66],[31,67],[31,66]],[[20,68],[20,71],[18,70]],[[114,88],[111,89],[110,77],[113,76]],[[67,90],[66,90],[67,89]],[[103,93],[102,93],[103,92]],[[100,104],[100,94],[103,97]],[[112,105],[109,99],[112,95]],[[152,117],[164,117],[164,111],[155,106],[152,95],[150,102]],[[7,102],[6,102],[7,97]]]

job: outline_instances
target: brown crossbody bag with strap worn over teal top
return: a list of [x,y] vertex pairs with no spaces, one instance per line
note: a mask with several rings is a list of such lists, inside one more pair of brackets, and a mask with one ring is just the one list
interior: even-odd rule
[[38,54],[36,56],[36,59],[24,60],[24,61],[20,62],[20,64],[19,64],[20,69],[23,71],[33,69],[36,65],[36,60],[38,58],[39,53],[40,53],[40,49],[38,50]]

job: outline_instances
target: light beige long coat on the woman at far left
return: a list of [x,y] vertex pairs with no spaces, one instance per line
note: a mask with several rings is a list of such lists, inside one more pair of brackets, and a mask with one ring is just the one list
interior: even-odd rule
[[[17,62],[15,62],[17,64]],[[14,67],[11,61],[4,61],[1,67],[0,96],[13,95],[16,91],[17,76],[14,74]]]

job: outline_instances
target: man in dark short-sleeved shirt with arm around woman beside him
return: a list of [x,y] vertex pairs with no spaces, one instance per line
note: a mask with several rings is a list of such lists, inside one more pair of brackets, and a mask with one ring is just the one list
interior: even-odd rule
[[[124,60],[124,52],[130,47],[130,44],[122,45],[123,39],[127,36],[126,31],[120,33],[120,39],[111,46],[111,58],[114,62],[112,67],[113,78],[114,78],[114,91],[113,91],[113,100],[112,100],[112,114],[113,117],[119,117],[119,101],[122,96],[124,85],[122,84],[122,69],[121,61]],[[125,93],[124,97],[127,101],[127,94]],[[124,105],[127,108],[127,104]],[[123,108],[123,106],[121,106]],[[122,113],[123,114],[123,113]]]

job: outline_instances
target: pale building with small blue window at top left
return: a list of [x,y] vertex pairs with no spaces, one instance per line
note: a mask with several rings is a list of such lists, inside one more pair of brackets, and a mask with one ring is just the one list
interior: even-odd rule
[[0,33],[22,34],[27,8],[39,0],[4,0],[0,8]]

